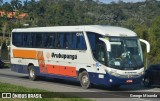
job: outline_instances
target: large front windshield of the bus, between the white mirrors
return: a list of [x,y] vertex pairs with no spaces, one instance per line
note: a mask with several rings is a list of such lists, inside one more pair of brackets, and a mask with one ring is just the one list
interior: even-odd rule
[[111,68],[134,70],[143,67],[142,50],[137,38],[110,38],[110,44],[108,65]]

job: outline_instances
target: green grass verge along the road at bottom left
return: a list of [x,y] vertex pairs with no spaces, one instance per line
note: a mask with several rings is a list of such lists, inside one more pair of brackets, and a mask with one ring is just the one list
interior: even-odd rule
[[[40,89],[31,89],[23,86],[16,86],[8,83],[0,83],[0,92],[18,92],[18,93],[42,93],[48,92]],[[1,94],[1,93],[0,93]],[[43,99],[2,99],[0,101],[91,101],[89,99],[82,99],[78,97],[71,98],[71,96],[64,95],[62,93],[53,92],[52,98]],[[1,95],[0,95],[1,96]]]

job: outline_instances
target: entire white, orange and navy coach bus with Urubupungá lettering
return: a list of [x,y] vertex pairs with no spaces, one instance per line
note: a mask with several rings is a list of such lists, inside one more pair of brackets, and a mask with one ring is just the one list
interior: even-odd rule
[[141,83],[144,60],[140,42],[129,29],[107,25],[13,29],[11,70],[29,79],[51,77],[120,87]]

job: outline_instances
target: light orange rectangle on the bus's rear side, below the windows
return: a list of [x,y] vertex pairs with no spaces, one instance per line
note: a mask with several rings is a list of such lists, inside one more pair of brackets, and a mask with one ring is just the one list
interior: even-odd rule
[[15,58],[37,59],[37,53],[35,50],[13,49],[13,56]]

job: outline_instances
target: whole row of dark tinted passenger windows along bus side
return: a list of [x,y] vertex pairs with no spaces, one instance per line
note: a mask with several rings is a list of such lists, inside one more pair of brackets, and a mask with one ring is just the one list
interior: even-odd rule
[[[22,35],[22,37],[21,37]],[[86,50],[82,32],[73,33],[14,33],[13,44],[19,47]],[[21,42],[22,40],[22,42]]]

